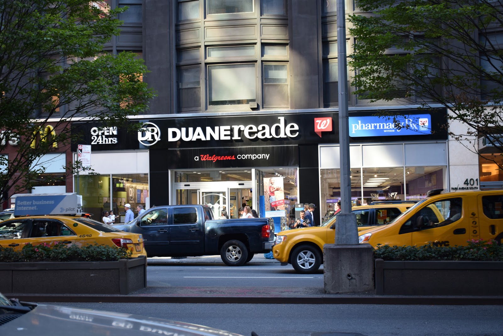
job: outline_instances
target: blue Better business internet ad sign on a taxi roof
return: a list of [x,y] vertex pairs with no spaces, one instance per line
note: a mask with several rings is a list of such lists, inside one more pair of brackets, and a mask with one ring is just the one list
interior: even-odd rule
[[16,196],[15,216],[69,215],[81,212],[77,194],[27,194]]

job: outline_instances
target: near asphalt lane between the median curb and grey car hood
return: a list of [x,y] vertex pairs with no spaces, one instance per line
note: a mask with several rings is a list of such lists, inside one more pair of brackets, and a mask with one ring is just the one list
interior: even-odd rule
[[[53,303],[207,325],[259,336],[501,336],[503,306]],[[70,331],[69,331],[70,332]]]

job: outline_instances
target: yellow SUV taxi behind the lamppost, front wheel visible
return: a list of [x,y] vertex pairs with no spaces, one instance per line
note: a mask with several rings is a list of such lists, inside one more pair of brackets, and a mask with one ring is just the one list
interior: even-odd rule
[[[358,231],[376,226],[385,226],[415,201],[375,201],[365,206],[353,207]],[[336,229],[333,224],[337,216],[330,217],[321,226],[281,231],[276,236],[273,256],[282,265],[292,264],[297,273],[315,273],[323,263],[323,245],[333,244]]]

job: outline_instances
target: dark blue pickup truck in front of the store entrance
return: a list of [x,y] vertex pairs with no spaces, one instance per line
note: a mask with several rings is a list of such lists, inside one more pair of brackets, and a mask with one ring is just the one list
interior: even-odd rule
[[112,226],[143,235],[149,257],[220,254],[229,266],[268,253],[274,241],[272,218],[214,220],[211,208],[203,205],[154,207],[127,224]]

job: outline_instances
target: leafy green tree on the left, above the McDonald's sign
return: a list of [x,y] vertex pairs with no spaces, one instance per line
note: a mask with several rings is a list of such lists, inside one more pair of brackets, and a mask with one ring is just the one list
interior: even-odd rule
[[[33,187],[47,167],[42,155],[76,139],[72,121],[126,126],[154,96],[142,82],[142,60],[103,51],[120,33],[117,15],[127,10],[104,4],[0,0],[0,153],[17,143],[17,151],[0,157],[2,201]],[[69,162],[66,169],[71,175],[82,167]]]

